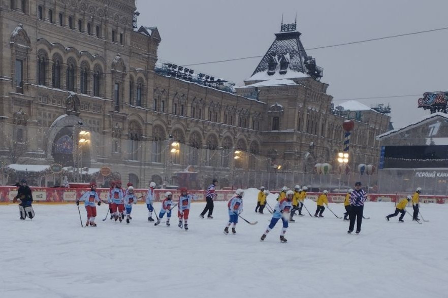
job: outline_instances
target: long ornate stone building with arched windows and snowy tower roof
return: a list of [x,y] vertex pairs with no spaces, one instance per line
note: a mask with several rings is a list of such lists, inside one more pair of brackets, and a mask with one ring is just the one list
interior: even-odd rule
[[[83,180],[109,167],[140,187],[181,184],[188,165],[197,173],[190,187],[213,176],[221,186],[301,183],[316,162],[337,168],[350,113],[332,106],[295,24],[282,24],[245,86],[235,87],[158,63],[161,36],[137,28],[135,12],[135,0],[0,0],[4,168],[58,163]],[[375,164],[374,137],[390,117],[353,115],[349,165]],[[55,183],[49,174],[37,183]]]

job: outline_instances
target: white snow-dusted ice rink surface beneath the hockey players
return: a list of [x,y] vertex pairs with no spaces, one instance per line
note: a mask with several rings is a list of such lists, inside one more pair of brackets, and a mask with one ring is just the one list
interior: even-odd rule
[[[200,219],[204,203],[191,206],[189,230],[147,222],[143,204],[131,224],[102,221],[81,228],[76,205],[35,204],[36,218],[20,221],[16,205],[0,206],[0,297],[446,297],[448,206],[421,207],[418,224],[406,215],[390,222],[393,203],[367,203],[361,235],[329,210],[325,218],[296,216],[279,242],[280,223],[260,242],[271,218],[255,214],[256,190],[244,196],[237,235],[222,233],[227,204],[214,219]],[[274,206],[275,195],[269,196]],[[305,206],[315,211],[315,203]],[[156,210],[160,203],[155,204]],[[342,216],[342,204],[330,204]],[[85,210],[80,206],[82,221]],[[177,212],[177,209],[175,209]],[[409,210],[410,211],[410,210]],[[174,214],[173,214],[174,215]],[[165,221],[165,219],[164,219]]]

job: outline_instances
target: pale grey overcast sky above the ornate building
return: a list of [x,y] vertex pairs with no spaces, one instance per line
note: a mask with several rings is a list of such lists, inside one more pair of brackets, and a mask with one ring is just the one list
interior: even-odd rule
[[[274,33],[294,22],[305,47],[333,45],[448,26],[445,0],[137,0],[139,25],[156,26],[161,60],[178,64],[264,55]],[[348,98],[446,90],[448,30],[307,51],[324,68],[336,104]],[[242,85],[261,58],[192,66]],[[360,100],[390,104],[395,128],[429,114],[419,96]]]

